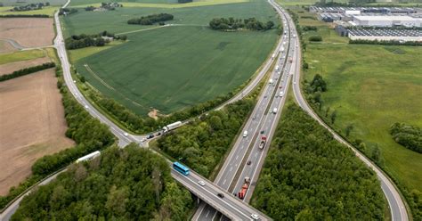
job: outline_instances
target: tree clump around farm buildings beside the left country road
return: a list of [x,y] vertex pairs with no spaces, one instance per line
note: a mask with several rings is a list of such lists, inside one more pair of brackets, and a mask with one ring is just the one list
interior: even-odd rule
[[71,36],[66,38],[65,45],[66,49],[73,50],[83,47],[90,47],[90,46],[103,46],[110,43],[111,39],[116,40],[123,40],[126,41],[126,36],[115,36],[114,34],[108,31],[102,31],[100,34],[96,35],[85,35],[81,34],[78,36]]

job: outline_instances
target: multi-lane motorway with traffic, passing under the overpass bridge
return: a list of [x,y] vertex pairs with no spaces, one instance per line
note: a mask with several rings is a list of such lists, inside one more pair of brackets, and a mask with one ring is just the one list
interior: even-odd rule
[[[282,107],[286,100],[289,80],[292,73],[295,72],[295,70],[291,70],[291,67],[296,67],[296,61],[293,61],[293,63],[289,61],[289,58],[296,50],[296,45],[290,44],[293,33],[289,31],[288,22],[286,22],[287,18],[280,12],[280,9],[276,8],[275,5],[273,6],[280,14],[284,25],[283,30],[286,31],[281,36],[279,45],[277,46],[278,50],[275,53],[275,59],[277,60],[275,66],[278,66],[279,69],[274,68],[272,70],[271,78],[274,82],[264,87],[263,93],[260,94],[256,102],[254,111],[252,111],[250,118],[242,129],[242,131],[248,131],[248,136],[243,137],[239,135],[229,156],[224,161],[222,169],[215,178],[215,184],[231,192],[233,195],[239,192],[245,177],[248,176],[251,178],[252,185],[256,183],[264,163],[266,152],[268,151],[268,148],[264,148],[264,150],[258,148],[261,137],[265,135],[267,137],[267,145],[271,143],[272,135],[275,132]],[[274,108],[278,110],[275,114],[272,112]],[[250,161],[249,165],[246,164],[248,161]],[[250,192],[253,189],[254,186],[249,187],[247,196],[243,201],[248,201],[251,195]],[[201,203],[192,220],[214,220],[216,214],[213,207],[206,203]]]

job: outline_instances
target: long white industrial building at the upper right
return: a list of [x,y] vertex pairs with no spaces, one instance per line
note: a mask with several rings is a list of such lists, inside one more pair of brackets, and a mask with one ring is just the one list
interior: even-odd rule
[[353,25],[373,27],[422,27],[421,18],[407,15],[353,15]]

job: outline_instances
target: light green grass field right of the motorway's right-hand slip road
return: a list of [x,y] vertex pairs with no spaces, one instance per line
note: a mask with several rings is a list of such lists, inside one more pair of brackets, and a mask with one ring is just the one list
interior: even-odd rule
[[[302,13],[299,13],[299,15]],[[302,25],[310,20],[301,19]],[[385,168],[410,190],[422,191],[422,154],[397,144],[388,133],[394,122],[422,127],[422,50],[412,46],[348,45],[325,23],[319,22],[321,43],[307,44],[304,59],[310,64],[304,78],[317,73],[328,83],[322,94],[324,108],[337,110],[335,127],[353,125],[350,140],[362,139],[368,151],[382,151]]]

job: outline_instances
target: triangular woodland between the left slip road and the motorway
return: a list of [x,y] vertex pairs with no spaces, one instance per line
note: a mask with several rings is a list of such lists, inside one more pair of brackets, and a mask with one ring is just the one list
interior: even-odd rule
[[254,103],[252,99],[244,99],[222,111],[212,111],[190,125],[164,135],[158,140],[158,148],[207,177],[229,150]]

